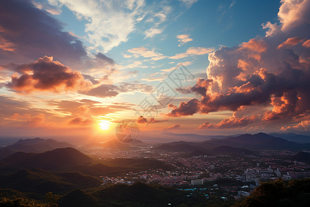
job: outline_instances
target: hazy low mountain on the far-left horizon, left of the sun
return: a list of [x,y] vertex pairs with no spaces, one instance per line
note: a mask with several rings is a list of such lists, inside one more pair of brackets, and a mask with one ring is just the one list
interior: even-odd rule
[[6,146],[11,150],[20,152],[45,152],[48,150],[54,150],[56,148],[68,148],[73,147],[71,144],[66,142],[55,141],[54,139],[19,139],[14,144]]

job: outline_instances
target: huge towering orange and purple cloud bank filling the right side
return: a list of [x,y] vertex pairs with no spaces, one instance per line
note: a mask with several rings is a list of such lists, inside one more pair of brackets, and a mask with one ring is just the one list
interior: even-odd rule
[[307,7],[309,2],[281,1],[278,14],[281,24],[273,24],[278,28],[272,31],[269,28],[266,37],[209,53],[207,79],[198,79],[193,87],[176,89],[184,94],[194,92],[201,99],[171,106],[172,111],[167,115],[181,117],[220,110],[238,112],[244,106],[265,108],[257,117],[255,114],[232,117],[219,124],[205,123],[201,128],[241,127],[275,120],[290,124],[296,117],[307,117],[310,111],[310,50],[304,40],[309,38],[309,18],[305,18],[309,12],[305,13],[300,5]]

